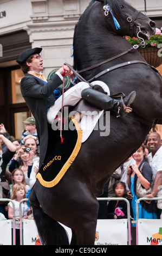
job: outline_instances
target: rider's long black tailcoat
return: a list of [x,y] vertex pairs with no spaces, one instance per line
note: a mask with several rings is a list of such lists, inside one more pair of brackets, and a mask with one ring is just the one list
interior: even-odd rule
[[22,96],[36,122],[36,130],[40,142],[40,167],[55,144],[54,131],[47,122],[47,108],[54,105],[55,95],[53,91],[61,84],[62,80],[56,74],[48,80],[47,84],[30,74],[25,74],[21,80]]

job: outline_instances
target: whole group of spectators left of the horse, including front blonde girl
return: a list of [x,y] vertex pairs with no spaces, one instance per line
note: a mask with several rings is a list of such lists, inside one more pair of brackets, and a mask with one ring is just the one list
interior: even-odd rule
[[[33,117],[24,123],[22,138],[10,136],[3,124],[0,125],[0,198],[13,200],[15,217],[20,220],[19,204],[27,198],[36,181],[39,166],[39,143]],[[26,202],[22,203],[23,218],[32,218]],[[12,204],[0,201],[0,220],[12,219]],[[16,245],[20,244],[20,226],[16,225]]]

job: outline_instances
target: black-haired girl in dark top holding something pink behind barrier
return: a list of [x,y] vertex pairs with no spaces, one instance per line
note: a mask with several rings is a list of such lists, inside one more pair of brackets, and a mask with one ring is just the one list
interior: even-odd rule
[[[122,181],[116,181],[113,190],[116,197],[124,197],[126,185]],[[127,218],[127,203],[124,200],[111,200],[107,206],[109,219]]]

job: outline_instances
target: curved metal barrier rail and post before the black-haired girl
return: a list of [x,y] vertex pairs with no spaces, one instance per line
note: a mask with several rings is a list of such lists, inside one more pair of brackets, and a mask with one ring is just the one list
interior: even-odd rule
[[130,214],[130,204],[129,201],[124,197],[101,197],[97,198],[99,201],[110,201],[110,200],[123,200],[127,203],[127,222],[128,222],[128,245],[131,245],[131,214]]

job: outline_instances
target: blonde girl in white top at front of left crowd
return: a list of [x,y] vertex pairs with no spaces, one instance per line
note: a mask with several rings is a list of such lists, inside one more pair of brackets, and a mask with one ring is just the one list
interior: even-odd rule
[[[15,217],[16,220],[20,220],[20,202],[22,199],[26,198],[25,196],[25,186],[22,183],[17,183],[12,187],[12,196],[11,200],[15,204]],[[8,217],[9,219],[13,218],[13,211],[12,211],[12,203],[9,202],[9,211]],[[27,203],[24,202],[21,204],[22,209],[22,218],[27,219],[29,215],[31,215],[31,209],[28,207]],[[16,224],[16,245],[20,245],[20,224]]]

